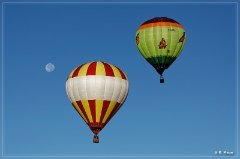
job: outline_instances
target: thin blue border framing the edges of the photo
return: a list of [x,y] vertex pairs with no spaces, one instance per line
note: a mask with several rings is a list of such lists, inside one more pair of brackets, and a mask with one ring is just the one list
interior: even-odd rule
[[234,156],[222,157],[238,157],[238,2],[2,2],[2,157],[216,157],[216,156],[6,156],[4,153],[4,5],[5,4],[235,4],[236,5],[236,150]]

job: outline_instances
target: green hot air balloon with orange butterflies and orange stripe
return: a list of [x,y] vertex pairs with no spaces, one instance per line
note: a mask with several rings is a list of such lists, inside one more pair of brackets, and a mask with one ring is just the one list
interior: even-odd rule
[[135,40],[139,52],[160,74],[160,83],[164,83],[163,72],[177,59],[186,42],[182,25],[167,17],[156,17],[138,28]]

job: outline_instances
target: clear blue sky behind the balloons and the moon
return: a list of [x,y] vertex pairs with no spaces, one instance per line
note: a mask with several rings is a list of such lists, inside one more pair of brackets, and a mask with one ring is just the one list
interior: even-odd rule
[[[237,154],[236,4],[5,3],[3,9],[4,156]],[[135,46],[138,27],[157,16],[175,19],[187,35],[164,84]],[[72,69],[90,61],[118,66],[130,82],[99,144],[65,90]]]

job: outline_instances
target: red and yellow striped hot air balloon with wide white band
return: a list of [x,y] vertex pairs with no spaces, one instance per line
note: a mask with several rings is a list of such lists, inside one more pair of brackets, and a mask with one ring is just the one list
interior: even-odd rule
[[85,63],[69,74],[67,96],[94,133],[94,143],[99,143],[98,133],[125,102],[128,89],[126,74],[106,62]]

